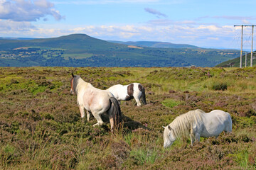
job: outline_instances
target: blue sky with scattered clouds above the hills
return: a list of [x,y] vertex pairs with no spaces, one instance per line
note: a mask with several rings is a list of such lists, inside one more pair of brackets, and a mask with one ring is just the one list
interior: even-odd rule
[[[255,6],[255,0],[0,0],[0,37],[84,33],[102,40],[240,49],[239,26],[256,24]],[[244,28],[244,48],[250,49],[251,33],[252,27]]]

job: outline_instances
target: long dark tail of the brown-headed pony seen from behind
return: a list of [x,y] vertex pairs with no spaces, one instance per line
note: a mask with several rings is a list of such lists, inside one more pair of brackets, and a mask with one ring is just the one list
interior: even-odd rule
[[[110,124],[114,123],[113,126],[117,126],[117,125],[119,125],[119,123],[121,123],[122,113],[121,113],[121,109],[120,109],[119,103],[116,98],[114,98],[114,97],[110,98],[110,108],[108,109],[107,113],[108,113],[110,119],[113,118],[113,120],[110,120]],[[114,121],[114,122],[112,122],[112,121]]]

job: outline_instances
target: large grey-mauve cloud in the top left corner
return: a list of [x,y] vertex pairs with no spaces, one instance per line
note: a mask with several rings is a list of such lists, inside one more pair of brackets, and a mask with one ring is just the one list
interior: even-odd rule
[[38,21],[46,16],[55,20],[64,18],[47,0],[0,0],[0,19],[11,21]]

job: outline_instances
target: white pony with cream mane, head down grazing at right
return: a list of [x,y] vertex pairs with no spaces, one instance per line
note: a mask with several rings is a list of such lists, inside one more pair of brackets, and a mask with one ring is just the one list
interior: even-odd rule
[[200,109],[179,115],[164,127],[164,147],[169,147],[178,138],[188,136],[191,145],[200,137],[218,137],[221,132],[232,131],[232,120],[228,112],[214,110],[205,113]]

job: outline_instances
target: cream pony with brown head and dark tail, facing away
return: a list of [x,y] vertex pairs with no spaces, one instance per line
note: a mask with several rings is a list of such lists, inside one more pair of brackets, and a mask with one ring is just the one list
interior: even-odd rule
[[[72,74],[71,94],[77,94],[77,102],[81,113],[81,118],[85,117],[87,111],[87,120],[90,120],[90,113],[97,119],[95,125],[102,125],[103,121],[100,115],[107,113],[110,118],[111,131],[120,122],[121,110],[116,98],[105,90],[100,90],[85,82],[80,76]],[[93,125],[93,126],[95,126]]]

